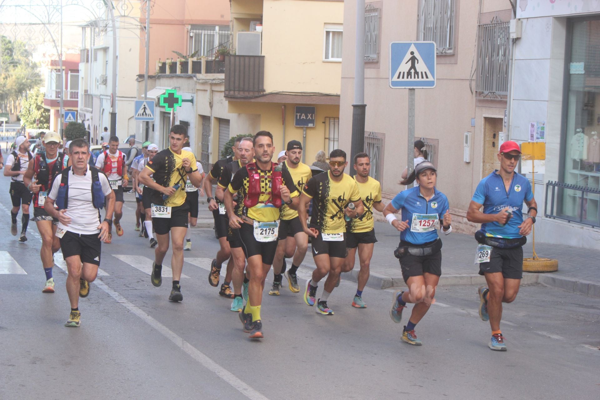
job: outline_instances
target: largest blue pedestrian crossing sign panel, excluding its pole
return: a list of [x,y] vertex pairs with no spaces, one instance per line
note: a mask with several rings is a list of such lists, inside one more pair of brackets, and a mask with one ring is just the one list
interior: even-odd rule
[[433,41],[393,41],[389,44],[389,87],[436,87],[436,44]]

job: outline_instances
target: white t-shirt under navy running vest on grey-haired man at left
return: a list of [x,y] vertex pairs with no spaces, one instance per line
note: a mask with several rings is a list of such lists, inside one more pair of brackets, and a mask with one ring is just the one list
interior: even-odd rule
[[[94,208],[92,203],[92,173],[88,170],[85,175],[75,175],[73,172],[69,174],[69,193],[67,211],[65,215],[71,218],[71,224],[65,226],[58,222],[58,227],[66,229],[73,233],[79,234],[95,234],[100,233],[98,225],[100,225],[100,210]],[[58,187],[61,185],[62,174],[56,176],[52,189],[48,194],[50,199],[56,200],[58,196]],[[112,189],[106,176],[103,173],[98,173],[98,179],[102,185],[102,193],[108,196]]]

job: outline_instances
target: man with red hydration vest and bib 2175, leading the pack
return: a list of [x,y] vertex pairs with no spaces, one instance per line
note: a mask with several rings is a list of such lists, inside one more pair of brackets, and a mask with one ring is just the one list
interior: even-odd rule
[[[272,134],[260,131],[254,135],[253,145],[256,162],[235,173],[224,200],[229,226],[242,242],[250,275],[248,301],[239,318],[244,332],[249,332],[252,339],[260,339],[264,337],[260,320],[262,291],[277,248],[279,208],[284,203],[296,208],[298,190],[290,173],[271,161],[275,151]],[[244,200],[240,199],[234,210],[233,195],[239,190]]]

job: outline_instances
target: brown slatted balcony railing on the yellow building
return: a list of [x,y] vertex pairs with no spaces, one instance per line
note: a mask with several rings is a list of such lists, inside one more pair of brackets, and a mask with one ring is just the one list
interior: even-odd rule
[[256,97],[265,92],[265,56],[225,56],[225,96]]

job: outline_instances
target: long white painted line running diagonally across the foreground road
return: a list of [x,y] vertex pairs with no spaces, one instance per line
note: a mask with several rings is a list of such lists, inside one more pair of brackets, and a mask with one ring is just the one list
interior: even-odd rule
[[218,377],[226,381],[234,389],[238,390],[238,392],[242,393],[242,395],[246,396],[248,399],[269,400],[268,398],[257,392],[257,390],[254,390],[251,386],[249,386],[244,381],[233,375],[231,372],[227,371],[227,369],[218,365],[218,363],[214,362],[210,357],[202,353],[202,351],[198,350],[196,347],[185,341],[183,338],[181,338],[181,336],[177,335],[175,332],[173,332],[172,330],[170,330],[169,328],[152,318],[150,315],[143,312],[136,305],[130,303],[127,299],[125,299],[125,297],[112,290],[103,281],[94,281],[94,284],[97,285],[97,287],[101,288],[110,297],[115,299],[116,302],[120,303],[129,311],[133,312],[133,314],[136,314],[138,317],[142,318],[142,320],[145,323],[156,329],[165,338],[172,341],[177,347],[181,348],[181,350],[189,354],[190,357],[199,362],[200,365],[202,365],[204,368],[208,369],[211,372],[214,372]]

